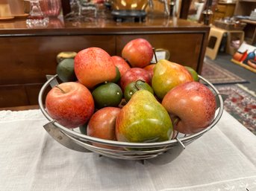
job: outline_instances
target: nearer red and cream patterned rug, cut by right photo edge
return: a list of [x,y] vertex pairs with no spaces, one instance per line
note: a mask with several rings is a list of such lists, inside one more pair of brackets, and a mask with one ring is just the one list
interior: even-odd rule
[[224,109],[256,135],[256,95],[243,85],[216,85],[222,94],[228,94]]

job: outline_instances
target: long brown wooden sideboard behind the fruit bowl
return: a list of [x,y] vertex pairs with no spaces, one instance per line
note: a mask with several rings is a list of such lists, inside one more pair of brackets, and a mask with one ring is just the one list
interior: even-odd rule
[[65,22],[50,19],[46,28],[28,28],[25,19],[0,22],[0,108],[37,105],[46,74],[56,73],[61,51],[100,47],[111,56],[124,45],[145,38],[154,48],[168,49],[170,60],[201,72],[210,28],[176,18],[146,22]]

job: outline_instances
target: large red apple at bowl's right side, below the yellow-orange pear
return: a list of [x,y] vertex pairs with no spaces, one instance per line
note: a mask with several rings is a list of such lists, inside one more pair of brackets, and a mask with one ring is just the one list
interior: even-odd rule
[[169,112],[174,129],[188,135],[209,126],[216,111],[214,94],[200,82],[172,88],[163,97],[162,105]]

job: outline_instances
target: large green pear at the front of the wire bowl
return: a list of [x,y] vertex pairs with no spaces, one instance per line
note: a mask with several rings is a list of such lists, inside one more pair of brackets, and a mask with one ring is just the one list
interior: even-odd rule
[[132,143],[169,140],[172,121],[168,112],[147,90],[134,93],[116,118],[116,139]]

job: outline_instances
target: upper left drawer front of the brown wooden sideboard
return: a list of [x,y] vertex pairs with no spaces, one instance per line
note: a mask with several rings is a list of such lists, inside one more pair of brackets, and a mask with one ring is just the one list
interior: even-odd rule
[[0,37],[0,45],[0,85],[46,82],[46,74],[56,74],[56,56],[61,51],[94,46],[115,53],[114,36]]

